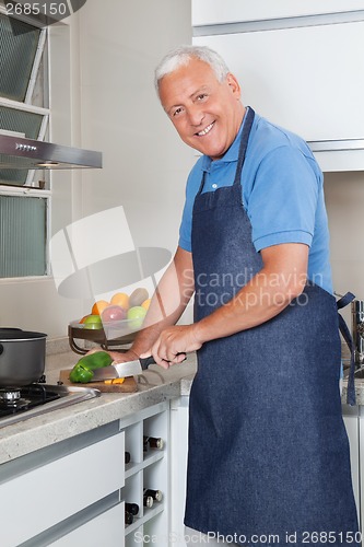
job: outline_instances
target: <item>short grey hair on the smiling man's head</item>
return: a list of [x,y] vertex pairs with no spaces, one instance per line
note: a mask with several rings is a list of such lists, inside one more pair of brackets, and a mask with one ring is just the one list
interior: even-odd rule
[[224,59],[213,49],[207,46],[178,46],[163,57],[154,71],[154,85],[157,94],[160,94],[162,78],[188,65],[192,57],[210,65],[219,82],[223,82],[230,72]]

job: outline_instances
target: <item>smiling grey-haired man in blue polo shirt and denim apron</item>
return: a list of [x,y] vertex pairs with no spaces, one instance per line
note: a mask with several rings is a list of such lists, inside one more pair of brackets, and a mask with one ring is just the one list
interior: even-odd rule
[[[197,351],[191,543],[359,546],[321,172],[300,137],[244,106],[215,51],[177,48],[155,78],[202,156],[149,326],[118,360],[168,368]],[[193,324],[176,325],[193,294]]]

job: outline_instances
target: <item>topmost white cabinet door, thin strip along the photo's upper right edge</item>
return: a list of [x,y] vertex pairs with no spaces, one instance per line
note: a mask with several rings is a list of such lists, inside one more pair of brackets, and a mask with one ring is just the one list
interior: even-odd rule
[[192,25],[364,10],[363,0],[192,0]]

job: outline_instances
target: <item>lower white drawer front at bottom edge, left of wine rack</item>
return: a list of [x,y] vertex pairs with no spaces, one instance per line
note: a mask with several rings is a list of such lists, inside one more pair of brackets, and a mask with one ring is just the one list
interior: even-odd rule
[[124,503],[116,505],[70,534],[50,544],[52,547],[124,547]]

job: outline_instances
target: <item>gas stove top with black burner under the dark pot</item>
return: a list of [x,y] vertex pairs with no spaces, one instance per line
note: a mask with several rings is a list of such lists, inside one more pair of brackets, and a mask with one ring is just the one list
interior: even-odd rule
[[98,389],[44,382],[22,387],[0,387],[0,428],[99,395]]

